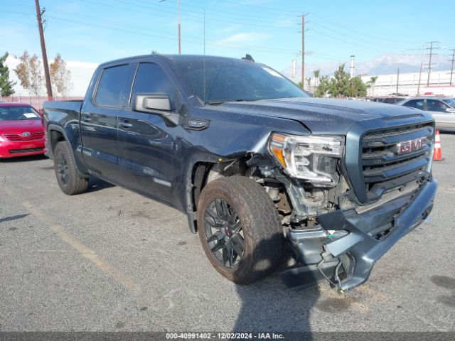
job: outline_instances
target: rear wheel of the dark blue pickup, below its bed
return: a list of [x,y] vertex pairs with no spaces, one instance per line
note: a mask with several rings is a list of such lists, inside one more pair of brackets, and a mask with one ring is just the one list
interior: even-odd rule
[[55,176],[60,190],[67,195],[84,193],[88,187],[88,178],[81,178],[77,173],[68,142],[58,142],[53,154]]

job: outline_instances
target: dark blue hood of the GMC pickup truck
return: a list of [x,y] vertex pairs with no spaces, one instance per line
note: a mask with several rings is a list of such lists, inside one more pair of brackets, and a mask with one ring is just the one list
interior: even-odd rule
[[314,134],[346,135],[355,122],[422,113],[419,109],[378,102],[296,97],[226,102],[223,111],[292,119]]

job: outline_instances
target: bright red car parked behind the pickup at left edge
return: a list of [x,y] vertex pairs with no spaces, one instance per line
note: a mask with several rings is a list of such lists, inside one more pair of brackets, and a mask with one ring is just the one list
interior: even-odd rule
[[29,104],[0,103],[0,158],[45,153],[41,115]]

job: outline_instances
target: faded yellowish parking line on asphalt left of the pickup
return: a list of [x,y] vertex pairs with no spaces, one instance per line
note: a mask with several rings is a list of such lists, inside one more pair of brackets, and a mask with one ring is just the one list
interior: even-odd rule
[[38,220],[41,220],[41,222],[45,223],[55,233],[55,235],[60,237],[60,239],[62,239],[64,242],[68,243],[71,247],[73,247],[73,249],[79,252],[79,254],[84,256],[86,259],[92,261],[92,263],[95,264],[95,266],[97,266],[97,268],[100,269],[103,273],[111,276],[114,281],[124,286],[129,291],[133,291],[134,288],[136,288],[136,283],[134,283],[131,278],[125,274],[122,274],[121,271],[115,268],[112,264],[109,264],[105,259],[102,258],[102,256],[90,249],[90,247],[87,247],[87,245],[80,242],[79,239],[73,236],[73,234],[70,234],[70,232],[66,231],[62,225],[58,224],[58,222],[55,222],[55,220],[50,218],[44,212],[35,208],[31,202],[23,200],[21,197],[13,193],[13,191],[11,191],[9,188],[6,188],[6,186],[2,186],[2,188],[10,197],[14,198],[18,202],[21,202],[21,205],[23,205],[23,207],[25,207],[31,213],[31,215],[38,218]]

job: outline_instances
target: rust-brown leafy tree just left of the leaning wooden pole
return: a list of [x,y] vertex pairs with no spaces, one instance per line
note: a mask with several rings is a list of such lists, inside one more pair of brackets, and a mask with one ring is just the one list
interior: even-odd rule
[[30,57],[27,51],[19,58],[21,63],[14,69],[21,86],[30,94],[40,96],[44,87],[43,67],[36,55]]

